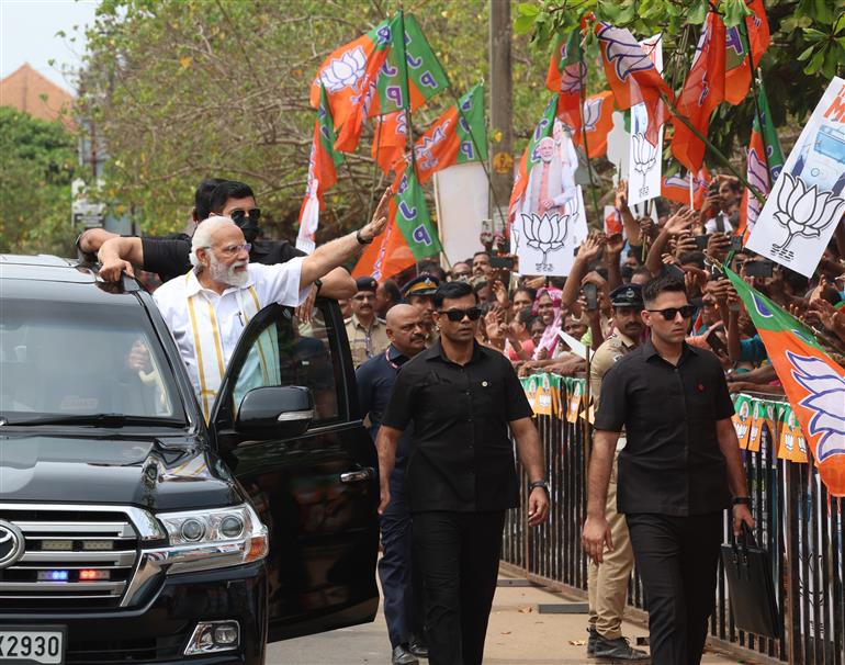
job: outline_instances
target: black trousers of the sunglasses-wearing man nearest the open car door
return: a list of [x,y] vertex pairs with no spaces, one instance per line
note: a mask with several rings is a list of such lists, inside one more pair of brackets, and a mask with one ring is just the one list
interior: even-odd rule
[[481,665],[505,511],[414,514],[429,665]]

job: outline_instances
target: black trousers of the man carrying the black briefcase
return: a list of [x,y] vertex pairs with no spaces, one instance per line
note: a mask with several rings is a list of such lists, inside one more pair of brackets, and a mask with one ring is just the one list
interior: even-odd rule
[[713,611],[724,514],[626,519],[645,589],[652,665],[698,665]]

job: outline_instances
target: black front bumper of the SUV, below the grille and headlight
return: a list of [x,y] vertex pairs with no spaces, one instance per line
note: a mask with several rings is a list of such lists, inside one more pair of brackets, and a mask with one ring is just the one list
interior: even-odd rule
[[[185,656],[200,621],[235,620],[240,639],[230,651]],[[192,663],[259,665],[267,641],[267,573],[263,562],[165,577],[143,607],[103,611],[5,615],[2,625],[65,625],[65,663],[122,665]]]

